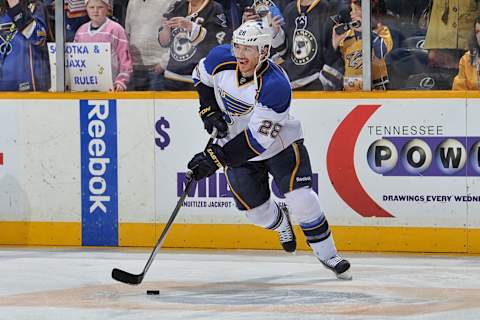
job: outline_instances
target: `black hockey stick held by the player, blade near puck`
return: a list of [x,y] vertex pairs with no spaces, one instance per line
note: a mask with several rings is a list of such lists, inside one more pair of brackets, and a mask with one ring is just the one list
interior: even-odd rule
[[[205,147],[208,148],[210,144],[213,142],[213,137],[216,136],[216,130],[212,133],[212,137],[208,140],[207,146]],[[143,278],[145,277],[145,274],[147,273],[148,269],[150,269],[150,265],[152,264],[153,260],[155,259],[155,256],[157,255],[158,251],[162,247],[163,241],[165,240],[165,237],[167,236],[168,231],[170,230],[170,227],[173,224],[173,221],[177,217],[178,211],[180,211],[180,208],[182,207],[183,201],[187,197],[188,191],[190,190],[192,183],[193,183],[193,173],[192,171],[188,171],[185,177],[186,184],[185,184],[185,189],[183,190],[182,195],[180,196],[180,199],[178,199],[177,205],[175,206],[175,209],[172,212],[172,215],[170,216],[170,219],[168,219],[167,224],[165,225],[165,228],[162,231],[162,234],[160,235],[160,238],[158,238],[157,244],[155,244],[155,247],[153,248],[152,253],[150,254],[150,257],[148,258],[147,264],[143,268],[142,273],[140,274],[133,274],[127,271],[123,271],[117,268],[114,268],[112,270],[112,278],[126,283],[126,284],[131,284],[131,285],[138,285],[142,283]]]

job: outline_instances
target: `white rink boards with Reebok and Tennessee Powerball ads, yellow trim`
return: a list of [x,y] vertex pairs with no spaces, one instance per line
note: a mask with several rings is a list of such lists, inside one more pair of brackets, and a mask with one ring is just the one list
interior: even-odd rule
[[[2,95],[0,244],[153,245],[208,140],[197,105],[185,92]],[[296,93],[292,114],[340,250],[480,252],[480,94]],[[278,241],[248,224],[217,172],[165,245]]]

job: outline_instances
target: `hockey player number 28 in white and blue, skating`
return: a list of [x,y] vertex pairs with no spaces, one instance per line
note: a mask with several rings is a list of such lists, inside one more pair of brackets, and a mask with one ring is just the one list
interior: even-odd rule
[[195,180],[225,171],[237,208],[253,224],[278,232],[287,252],[296,239],[286,208],[271,198],[270,173],[300,223],[315,256],[337,277],[350,263],[338,255],[320,201],[301,124],[290,116],[291,88],[285,72],[268,59],[272,42],[261,21],[247,21],[232,47],[213,48],[193,72],[205,129],[217,142],[188,163]]

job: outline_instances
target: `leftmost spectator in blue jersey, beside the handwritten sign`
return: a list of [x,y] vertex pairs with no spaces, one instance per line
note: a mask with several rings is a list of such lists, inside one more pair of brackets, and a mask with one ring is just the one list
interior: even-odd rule
[[41,3],[0,1],[0,90],[47,90],[46,25]]

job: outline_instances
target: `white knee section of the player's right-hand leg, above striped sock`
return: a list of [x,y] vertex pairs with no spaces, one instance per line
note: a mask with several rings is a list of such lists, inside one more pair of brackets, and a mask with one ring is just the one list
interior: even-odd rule
[[312,188],[300,188],[285,194],[287,206],[300,223],[323,217],[320,200]]

